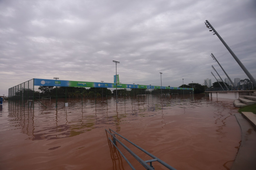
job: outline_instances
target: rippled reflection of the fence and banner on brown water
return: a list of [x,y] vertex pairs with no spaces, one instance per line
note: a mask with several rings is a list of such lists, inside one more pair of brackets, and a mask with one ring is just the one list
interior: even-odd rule
[[[157,96],[143,98],[120,98],[116,103],[115,97],[104,99],[73,99],[64,105],[64,99],[58,99],[57,106],[54,100],[34,103],[34,110],[20,106],[9,108],[10,126],[20,128],[22,133],[28,134],[29,139],[59,139],[79,135],[94,128],[105,125],[117,126],[125,123],[126,118],[137,120],[139,117],[154,116],[159,114],[164,117],[163,110],[172,107],[193,108],[193,96],[186,99],[179,96],[161,99]],[[163,118],[164,120],[164,118]],[[164,126],[164,122],[161,121]]]

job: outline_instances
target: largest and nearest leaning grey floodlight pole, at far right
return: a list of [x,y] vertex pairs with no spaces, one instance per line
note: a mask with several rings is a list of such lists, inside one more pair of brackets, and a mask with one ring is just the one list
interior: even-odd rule
[[253,76],[249,73],[249,71],[245,68],[244,64],[236,57],[235,53],[229,48],[229,46],[224,42],[224,40],[221,38],[221,36],[218,34],[218,32],[213,28],[213,26],[205,20],[205,25],[209,31],[213,31],[213,35],[217,35],[217,37],[221,40],[221,42],[224,44],[224,46],[227,48],[227,50],[230,52],[230,54],[233,56],[233,58],[236,60],[236,62],[239,64],[239,66],[243,69],[245,74],[248,76],[248,78],[253,82],[254,86],[256,86],[256,80],[253,78]]

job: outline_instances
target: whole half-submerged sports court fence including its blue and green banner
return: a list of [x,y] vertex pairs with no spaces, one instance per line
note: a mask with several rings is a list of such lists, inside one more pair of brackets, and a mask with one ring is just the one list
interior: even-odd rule
[[[117,86],[117,87],[116,87]],[[117,88],[117,91],[116,91]],[[110,90],[113,89],[113,92]],[[127,90],[130,89],[130,90]],[[115,84],[115,83],[98,83],[84,81],[67,81],[33,78],[9,89],[9,102],[11,105],[30,107],[34,102],[40,102],[42,97],[57,100],[58,98],[83,98],[83,97],[136,97],[137,95],[161,95],[168,96],[171,93],[193,93],[192,88],[164,87],[164,86],[147,86],[135,84]],[[42,103],[41,103],[42,104]],[[43,105],[43,104],[42,104]]]

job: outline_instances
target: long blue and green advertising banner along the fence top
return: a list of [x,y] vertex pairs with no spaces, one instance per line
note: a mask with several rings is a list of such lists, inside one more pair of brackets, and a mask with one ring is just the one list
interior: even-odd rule
[[[34,78],[34,86],[116,88],[116,83],[98,83],[98,82],[87,82],[87,81],[50,80],[50,79]],[[117,88],[193,90],[192,88],[180,88],[180,87],[148,86],[148,85],[136,85],[136,84],[118,84],[118,81],[117,81]]]

